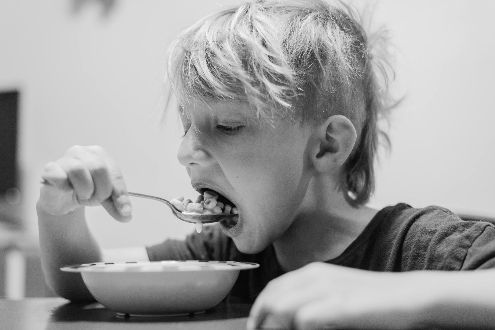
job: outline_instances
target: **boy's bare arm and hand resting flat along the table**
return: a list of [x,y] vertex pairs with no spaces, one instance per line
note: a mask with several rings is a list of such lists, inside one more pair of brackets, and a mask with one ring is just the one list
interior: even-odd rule
[[494,269],[391,273],[316,262],[271,281],[247,328],[492,329],[494,278]]

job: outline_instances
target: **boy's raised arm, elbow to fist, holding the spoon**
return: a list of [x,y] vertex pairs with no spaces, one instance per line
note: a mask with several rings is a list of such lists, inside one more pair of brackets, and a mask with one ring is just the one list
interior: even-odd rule
[[80,274],[60,267],[97,262],[102,253],[91,235],[85,206],[103,206],[118,221],[131,219],[131,205],[122,174],[99,146],[71,147],[48,163],[37,203],[40,251],[49,286],[70,300],[93,299]]

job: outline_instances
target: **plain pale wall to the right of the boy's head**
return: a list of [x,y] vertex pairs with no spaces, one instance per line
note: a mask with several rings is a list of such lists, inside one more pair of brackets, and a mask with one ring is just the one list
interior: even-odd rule
[[393,114],[378,205],[495,214],[495,33],[490,0],[384,1],[406,99]]

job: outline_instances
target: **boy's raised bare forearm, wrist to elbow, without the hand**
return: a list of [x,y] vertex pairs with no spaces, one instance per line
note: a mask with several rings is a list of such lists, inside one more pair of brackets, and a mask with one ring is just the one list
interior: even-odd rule
[[94,300],[80,274],[60,271],[64,265],[101,259],[99,246],[86,223],[84,207],[64,215],[51,215],[38,203],[37,211],[41,261],[49,287],[73,301]]

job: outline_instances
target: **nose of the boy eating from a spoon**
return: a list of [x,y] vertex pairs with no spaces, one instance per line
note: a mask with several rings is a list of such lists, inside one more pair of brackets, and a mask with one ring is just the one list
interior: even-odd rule
[[196,133],[191,131],[194,129],[190,129],[183,138],[177,152],[177,159],[186,167],[208,165],[211,162],[211,156],[201,145]]

